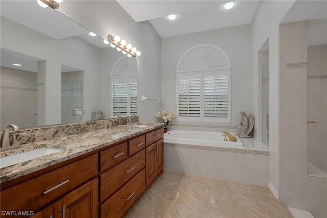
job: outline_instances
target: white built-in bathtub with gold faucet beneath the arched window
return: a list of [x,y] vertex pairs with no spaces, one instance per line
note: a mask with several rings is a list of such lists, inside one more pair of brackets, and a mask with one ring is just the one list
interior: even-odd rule
[[[222,132],[206,132],[193,130],[171,130],[165,133],[166,143],[191,144],[195,146],[210,146],[222,148],[243,148],[243,144],[238,136],[237,142],[224,141]],[[232,135],[235,133],[231,133]],[[228,138],[228,137],[227,137]]]

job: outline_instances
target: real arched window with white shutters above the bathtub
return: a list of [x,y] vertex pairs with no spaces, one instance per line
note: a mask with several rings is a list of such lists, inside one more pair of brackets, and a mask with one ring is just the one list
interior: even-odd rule
[[176,67],[177,120],[231,122],[231,63],[214,44],[198,44],[180,57]]

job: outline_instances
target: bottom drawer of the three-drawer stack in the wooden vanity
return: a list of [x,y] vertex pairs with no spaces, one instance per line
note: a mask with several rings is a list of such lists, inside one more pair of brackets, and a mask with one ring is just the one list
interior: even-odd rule
[[121,217],[144,190],[145,169],[100,206],[101,217]]

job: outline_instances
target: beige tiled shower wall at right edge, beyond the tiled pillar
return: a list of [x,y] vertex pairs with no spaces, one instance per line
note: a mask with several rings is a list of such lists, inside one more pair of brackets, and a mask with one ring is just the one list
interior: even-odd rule
[[308,47],[308,161],[327,172],[327,45]]

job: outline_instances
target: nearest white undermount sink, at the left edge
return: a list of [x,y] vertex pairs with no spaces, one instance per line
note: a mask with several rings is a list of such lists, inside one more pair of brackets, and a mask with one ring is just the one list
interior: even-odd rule
[[0,168],[11,166],[16,163],[21,163],[24,161],[32,160],[38,157],[43,157],[45,155],[54,154],[57,152],[61,152],[61,149],[54,149],[54,148],[42,148],[42,149],[35,149],[32,151],[27,151],[19,154],[14,154],[6,157],[0,158]]

